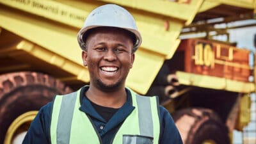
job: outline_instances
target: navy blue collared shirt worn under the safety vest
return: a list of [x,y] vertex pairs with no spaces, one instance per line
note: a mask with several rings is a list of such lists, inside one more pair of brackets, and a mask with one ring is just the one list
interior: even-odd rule
[[[130,115],[134,107],[132,106],[131,93],[127,92],[127,101],[116,111],[116,113],[109,119],[108,122],[95,111],[90,100],[84,97],[87,88],[81,91],[81,111],[90,116],[95,128],[97,129],[101,138],[102,144],[110,144],[115,137],[118,128],[124,122],[125,118]],[[43,106],[35,119],[31,123],[29,130],[24,138],[22,144],[50,144],[50,122],[51,122],[52,102]],[[160,106],[160,120],[161,133],[159,136],[159,143],[161,144],[182,144],[179,131],[173,122],[170,113]]]

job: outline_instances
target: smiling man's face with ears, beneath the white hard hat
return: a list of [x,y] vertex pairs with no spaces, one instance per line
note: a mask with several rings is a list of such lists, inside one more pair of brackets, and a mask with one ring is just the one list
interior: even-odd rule
[[93,30],[83,51],[83,63],[90,72],[90,85],[105,91],[124,87],[134,61],[132,47],[132,38],[124,30]]

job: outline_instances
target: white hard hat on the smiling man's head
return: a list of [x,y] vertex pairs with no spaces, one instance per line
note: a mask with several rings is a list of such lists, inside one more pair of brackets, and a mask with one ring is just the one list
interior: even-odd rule
[[131,13],[121,6],[116,4],[99,6],[86,17],[83,28],[77,34],[77,40],[81,49],[84,50],[85,48],[84,36],[86,36],[86,31],[98,27],[114,27],[131,31],[136,36],[133,51],[136,51],[141,45],[141,35],[134,18]]

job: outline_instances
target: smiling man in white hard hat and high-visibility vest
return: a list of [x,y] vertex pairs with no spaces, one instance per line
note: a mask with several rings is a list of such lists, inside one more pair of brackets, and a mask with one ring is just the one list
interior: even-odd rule
[[172,117],[156,97],[125,88],[141,36],[132,15],[115,4],[88,15],[78,33],[90,85],[57,95],[40,109],[23,143],[181,144]]

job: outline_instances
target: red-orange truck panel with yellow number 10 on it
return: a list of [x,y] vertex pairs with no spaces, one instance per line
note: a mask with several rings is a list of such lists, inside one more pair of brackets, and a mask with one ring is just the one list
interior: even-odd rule
[[185,52],[184,71],[207,76],[248,81],[250,51],[209,40],[182,40],[178,51]]

